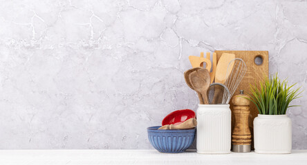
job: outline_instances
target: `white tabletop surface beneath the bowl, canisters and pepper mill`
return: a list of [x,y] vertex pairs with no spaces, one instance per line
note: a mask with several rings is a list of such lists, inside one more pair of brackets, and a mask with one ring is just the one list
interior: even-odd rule
[[230,153],[203,155],[195,151],[159,153],[156,150],[2,150],[0,164],[307,164],[307,151],[263,155]]

